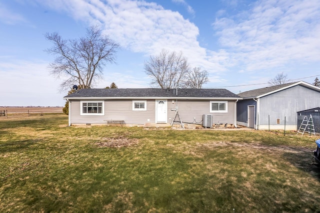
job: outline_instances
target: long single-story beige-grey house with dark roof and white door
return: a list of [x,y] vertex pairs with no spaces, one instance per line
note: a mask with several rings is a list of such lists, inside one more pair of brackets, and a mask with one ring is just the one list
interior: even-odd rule
[[[184,123],[202,124],[203,114],[212,123],[236,124],[236,102],[241,99],[226,89],[80,89],[64,97],[69,103],[69,125],[171,124],[176,111]],[[175,121],[180,120],[175,117]]]

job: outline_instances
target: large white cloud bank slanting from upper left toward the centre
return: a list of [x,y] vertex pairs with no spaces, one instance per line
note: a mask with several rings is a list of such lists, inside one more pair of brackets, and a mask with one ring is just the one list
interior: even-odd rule
[[56,10],[65,10],[76,19],[99,24],[112,39],[133,52],[149,56],[158,54],[162,48],[182,51],[192,66],[209,72],[225,70],[220,60],[212,60],[220,57],[216,52],[199,46],[199,30],[194,23],[156,3],[137,0],[38,2]]

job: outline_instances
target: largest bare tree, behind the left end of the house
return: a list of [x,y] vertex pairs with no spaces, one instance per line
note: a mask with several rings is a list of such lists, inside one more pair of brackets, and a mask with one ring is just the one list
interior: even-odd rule
[[90,88],[102,78],[102,66],[113,63],[119,44],[102,35],[97,26],[86,29],[86,35],[78,39],[63,39],[57,32],[46,33],[45,38],[53,43],[46,52],[55,55],[49,64],[50,73],[64,78],[61,89],[73,84]]

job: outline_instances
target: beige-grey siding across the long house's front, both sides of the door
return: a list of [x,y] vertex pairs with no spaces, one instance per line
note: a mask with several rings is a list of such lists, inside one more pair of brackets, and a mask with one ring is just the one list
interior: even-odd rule
[[[173,101],[167,100],[167,123],[171,123],[175,114],[176,100]],[[210,100],[178,100],[177,106],[185,123],[193,123],[195,118],[202,124],[203,114],[213,114],[213,123],[234,124],[234,102],[228,101],[226,113],[210,113]],[[71,124],[104,124],[104,120],[123,120],[125,124],[155,123],[155,100],[146,100],[146,111],[132,111],[132,100],[104,100],[103,116],[80,115],[80,100],[72,100],[69,106]]]

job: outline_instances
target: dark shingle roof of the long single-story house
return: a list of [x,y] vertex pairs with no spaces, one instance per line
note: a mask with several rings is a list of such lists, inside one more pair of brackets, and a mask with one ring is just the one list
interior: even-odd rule
[[70,99],[83,98],[240,98],[226,89],[159,89],[159,88],[134,88],[134,89],[80,89],[65,96]]

